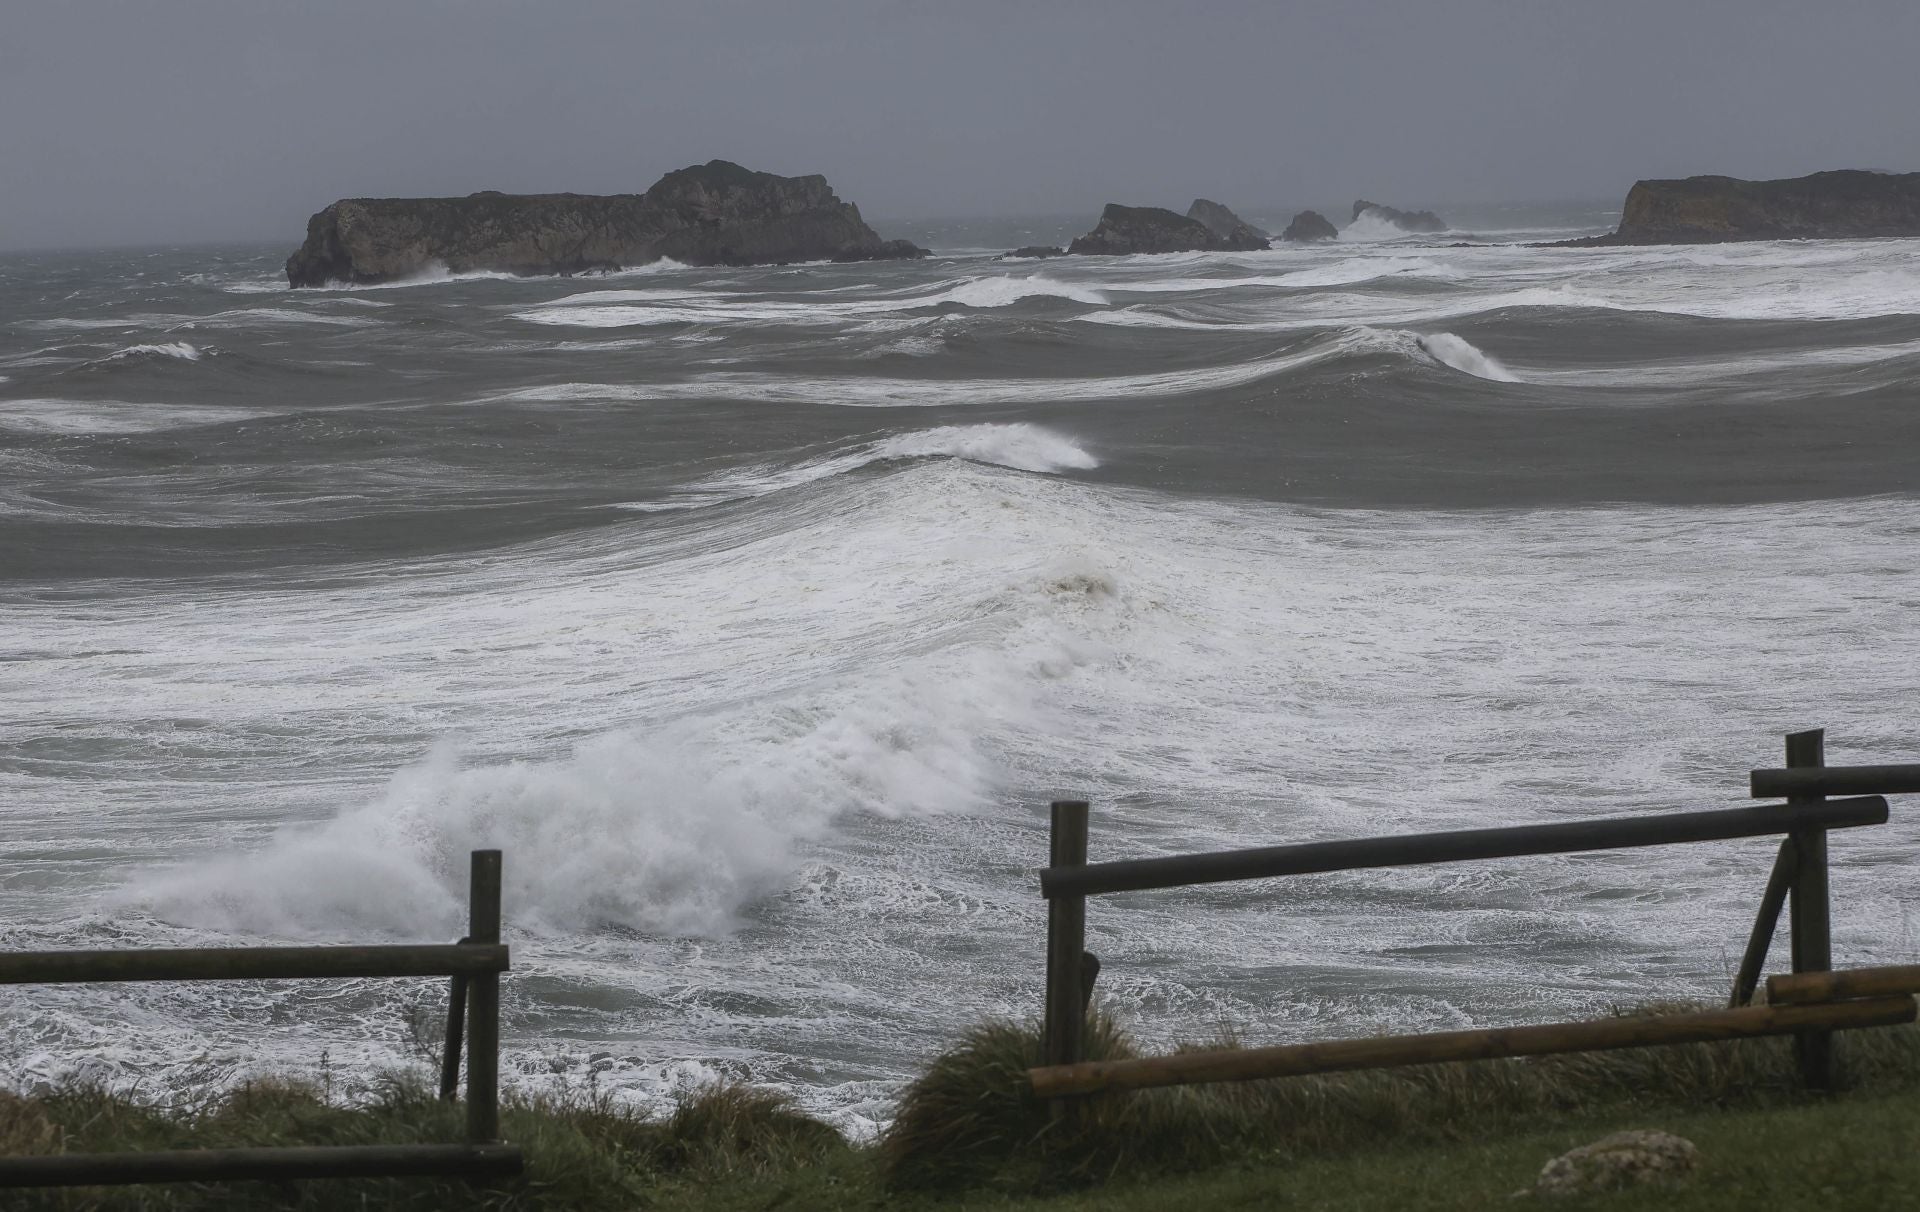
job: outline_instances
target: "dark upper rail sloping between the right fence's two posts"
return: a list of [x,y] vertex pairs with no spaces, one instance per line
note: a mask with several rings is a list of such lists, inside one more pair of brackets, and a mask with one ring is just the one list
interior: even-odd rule
[[1885,824],[1887,801],[1880,795],[1830,799],[1797,805],[1755,805],[1711,812],[1661,812],[1655,816],[1609,816],[1565,824],[1523,824],[1500,830],[1459,830],[1452,834],[1402,834],[1357,841],[1308,841],[1250,851],[1210,855],[1169,855],[1129,859],[1089,866],[1048,866],[1041,872],[1043,897],[1091,897],[1112,891],[1263,880],[1269,876],[1308,876],[1371,866],[1419,866],[1425,862],[1465,862],[1473,859],[1519,859],[1523,855],[1569,855],[1680,841],[1724,841],[1761,837],[1791,830],[1843,830]]

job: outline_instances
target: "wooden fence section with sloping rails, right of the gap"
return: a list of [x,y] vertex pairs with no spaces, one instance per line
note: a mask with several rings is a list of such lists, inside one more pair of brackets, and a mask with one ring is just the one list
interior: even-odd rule
[[[1087,803],[1056,801],[1050,866],[1041,872],[1041,895],[1046,899],[1046,1016],[1044,1064],[1029,1070],[1033,1091],[1058,1099],[1150,1085],[1248,1081],[1398,1064],[1786,1033],[1795,1037],[1801,1079],[1824,1089],[1834,1078],[1832,1031],[1914,1022],[1912,995],[1920,991],[1920,966],[1830,972],[1834,964],[1826,847],[1832,830],[1885,824],[1885,795],[1920,791],[1920,764],[1826,766],[1824,736],[1824,730],[1791,734],[1786,743],[1786,768],[1751,772],[1751,795],[1757,799],[1784,795],[1784,805],[1711,812],[1313,841],[1089,864]],[[1849,795],[1849,799],[1828,799],[1828,795]],[[1726,1010],[1382,1035],[1271,1049],[1221,1049],[1137,1060],[1085,1060],[1087,1005],[1100,970],[1098,958],[1087,951],[1087,897],[1227,880],[1763,836],[1784,836],[1784,839]],[[1753,1006],[1749,1003],[1766,966],[1766,951],[1784,905],[1791,905],[1793,976],[1772,978],[1768,1005]]]

